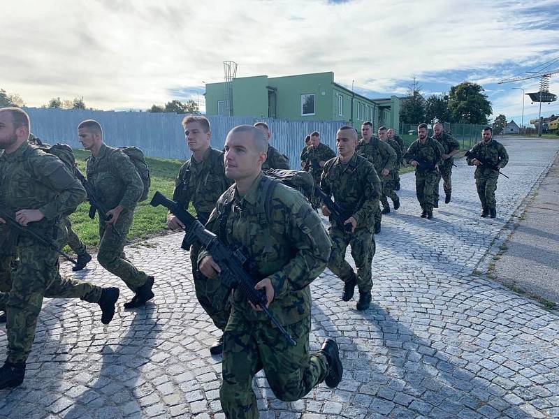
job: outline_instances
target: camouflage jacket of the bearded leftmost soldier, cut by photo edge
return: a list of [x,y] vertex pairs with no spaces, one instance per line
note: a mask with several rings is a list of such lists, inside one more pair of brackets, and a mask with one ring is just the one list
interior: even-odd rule
[[[56,239],[60,217],[85,198],[82,184],[66,165],[28,141],[0,155],[0,207],[12,216],[19,210],[40,210],[44,218],[30,224],[37,233]],[[20,244],[22,240],[33,239],[22,236]]]

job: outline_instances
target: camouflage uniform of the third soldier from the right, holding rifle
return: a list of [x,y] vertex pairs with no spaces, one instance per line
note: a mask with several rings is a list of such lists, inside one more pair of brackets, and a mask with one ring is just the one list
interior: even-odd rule
[[442,145],[427,137],[425,142],[421,142],[419,138],[412,142],[404,154],[408,163],[416,159],[424,163],[415,168],[415,192],[421,209],[426,212],[433,212],[438,177],[434,167],[440,163],[442,152]]

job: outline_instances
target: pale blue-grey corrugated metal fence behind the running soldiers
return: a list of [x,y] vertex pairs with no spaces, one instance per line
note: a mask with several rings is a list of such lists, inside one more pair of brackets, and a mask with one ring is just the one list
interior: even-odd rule
[[[135,145],[146,156],[186,160],[190,152],[184,143],[180,122],[184,115],[151,112],[115,112],[103,110],[66,110],[25,108],[31,118],[31,131],[45,142],[64,142],[80,148],[77,127],[84,119],[95,119],[103,126],[108,145]],[[335,133],[344,121],[288,121],[253,117],[207,116],[212,126],[212,147],[222,149],[228,131],[240,124],[263,121],[273,133],[272,144],[289,157],[292,168],[300,168],[299,155],[305,136],[321,133],[321,141],[335,150]]]

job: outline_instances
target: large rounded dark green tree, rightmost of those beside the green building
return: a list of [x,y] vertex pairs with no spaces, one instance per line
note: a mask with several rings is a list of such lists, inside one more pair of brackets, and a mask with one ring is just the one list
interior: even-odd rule
[[484,88],[477,83],[463,82],[450,89],[449,110],[451,122],[467,124],[487,124],[487,117],[493,109],[484,94]]

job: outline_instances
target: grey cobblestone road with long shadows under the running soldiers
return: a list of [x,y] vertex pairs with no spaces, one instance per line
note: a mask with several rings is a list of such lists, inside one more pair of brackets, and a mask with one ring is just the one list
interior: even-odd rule
[[[312,286],[311,346],[337,339],[344,381],[284,403],[259,374],[261,418],[559,418],[559,319],[484,277],[559,142],[504,143],[510,179],[499,179],[497,219],[479,218],[463,159],[452,203],[433,221],[419,218],[414,176],[402,177],[402,207],[377,236],[371,309],[342,302],[329,271]],[[107,327],[95,304],[46,300],[26,379],[0,392],[0,417],[224,418],[221,358],[208,351],[217,333],[196,303],[181,240],[167,235],[127,250],[155,275],[156,298],[124,311],[124,291]],[[75,277],[122,285],[95,263]],[[0,359],[5,346],[2,329]]]

